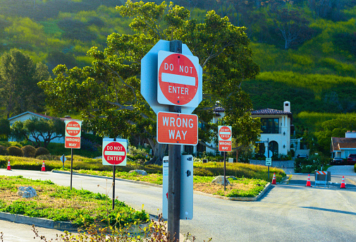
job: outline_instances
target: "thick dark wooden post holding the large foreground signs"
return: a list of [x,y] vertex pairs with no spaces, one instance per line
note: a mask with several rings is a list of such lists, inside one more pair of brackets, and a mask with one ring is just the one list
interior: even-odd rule
[[[170,42],[170,51],[182,53],[182,42]],[[169,111],[180,113],[180,106],[169,106]],[[180,145],[168,145],[168,224],[167,230],[172,241],[179,240],[180,226]]]

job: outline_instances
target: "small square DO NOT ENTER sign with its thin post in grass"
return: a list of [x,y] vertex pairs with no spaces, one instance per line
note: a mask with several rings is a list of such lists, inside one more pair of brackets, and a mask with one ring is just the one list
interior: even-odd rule
[[113,203],[115,209],[115,171],[116,166],[125,166],[128,150],[128,140],[117,138],[103,139],[102,162],[104,165],[113,166]]

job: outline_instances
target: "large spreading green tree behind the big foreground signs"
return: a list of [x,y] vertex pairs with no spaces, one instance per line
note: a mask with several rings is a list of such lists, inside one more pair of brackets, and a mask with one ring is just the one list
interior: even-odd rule
[[[147,138],[154,150],[153,161],[161,161],[164,146],[156,143],[156,114],[140,95],[137,78],[140,60],[158,40],[182,40],[199,57],[204,96],[195,113],[203,123],[211,120],[216,101],[235,95],[240,83],[254,78],[259,68],[252,61],[245,28],[235,27],[214,11],[207,13],[204,23],[197,23],[190,19],[190,11],[173,3],[127,1],[117,10],[132,19],[134,35],[109,35],[104,52],[96,47],[88,52],[94,58],[92,66],[70,70],[57,66],[56,78],[39,85],[54,110],[80,111],[87,128],[99,135]],[[203,143],[214,135],[209,130],[213,126],[205,127],[200,129]]]

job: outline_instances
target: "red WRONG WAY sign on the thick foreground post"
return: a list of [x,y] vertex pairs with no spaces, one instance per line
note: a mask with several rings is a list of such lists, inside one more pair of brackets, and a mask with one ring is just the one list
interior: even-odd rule
[[198,116],[160,111],[157,114],[157,142],[173,145],[197,145]]

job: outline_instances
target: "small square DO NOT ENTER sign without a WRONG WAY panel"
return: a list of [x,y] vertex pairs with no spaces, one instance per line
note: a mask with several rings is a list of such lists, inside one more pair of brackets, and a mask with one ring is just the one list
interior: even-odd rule
[[103,141],[103,159],[104,165],[126,165],[126,142]]

